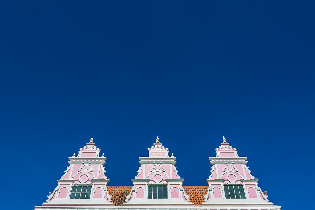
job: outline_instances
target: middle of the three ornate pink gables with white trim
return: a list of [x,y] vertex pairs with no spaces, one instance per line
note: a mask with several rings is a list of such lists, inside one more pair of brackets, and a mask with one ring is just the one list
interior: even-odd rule
[[178,171],[174,166],[176,157],[173,153],[169,156],[169,149],[160,143],[158,137],[147,150],[149,151],[147,157],[139,157],[141,166],[135,178],[131,179],[133,188],[127,196],[127,203],[189,205],[189,196],[182,187],[184,179],[177,174]]

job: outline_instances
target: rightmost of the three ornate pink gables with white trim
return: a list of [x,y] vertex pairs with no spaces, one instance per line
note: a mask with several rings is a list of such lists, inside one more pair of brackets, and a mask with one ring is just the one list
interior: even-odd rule
[[226,143],[225,137],[222,141],[221,146],[215,149],[216,157],[209,157],[211,175],[207,179],[209,189],[204,201],[209,204],[272,205],[266,192],[258,187],[258,179],[246,166],[247,157],[239,157],[237,149]]

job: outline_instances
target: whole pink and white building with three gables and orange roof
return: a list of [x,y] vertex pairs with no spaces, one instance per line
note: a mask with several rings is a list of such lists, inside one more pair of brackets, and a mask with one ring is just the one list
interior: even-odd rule
[[109,186],[105,176],[106,157],[93,139],[77,155],[69,157],[64,174],[42,206],[35,210],[280,210],[258,186],[237,149],[223,142],[210,157],[209,186],[184,186],[176,170],[176,157],[157,137],[139,157],[139,170],[132,186]]

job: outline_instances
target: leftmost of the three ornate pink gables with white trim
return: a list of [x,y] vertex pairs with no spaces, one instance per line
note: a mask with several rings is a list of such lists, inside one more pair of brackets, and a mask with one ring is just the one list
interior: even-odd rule
[[91,138],[86,146],[79,149],[77,156],[73,154],[69,157],[69,166],[65,174],[57,180],[58,186],[47,196],[47,203],[43,203],[43,206],[82,204],[83,200],[89,203],[111,201],[111,196],[107,193],[107,184],[110,180],[105,176],[103,166],[106,157],[104,154],[100,156],[100,149],[93,141]]

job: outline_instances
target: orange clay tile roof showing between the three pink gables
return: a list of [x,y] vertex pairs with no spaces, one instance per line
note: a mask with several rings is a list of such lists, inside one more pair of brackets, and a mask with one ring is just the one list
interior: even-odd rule
[[[123,202],[126,200],[126,195],[129,195],[132,187],[107,187],[108,194],[112,195],[111,202],[115,204],[115,206],[121,206]],[[193,205],[201,205],[204,200],[203,195],[206,195],[208,192],[208,186],[194,186],[187,187],[183,186],[185,193],[189,196],[189,202],[192,202]]]

